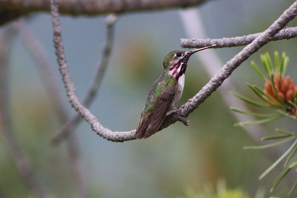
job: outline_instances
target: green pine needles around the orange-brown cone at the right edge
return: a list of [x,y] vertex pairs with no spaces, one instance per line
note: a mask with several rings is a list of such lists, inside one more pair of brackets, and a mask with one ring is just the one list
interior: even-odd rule
[[[289,58],[286,56],[286,54],[283,52],[281,59],[279,60],[279,53],[276,51],[274,52],[274,65],[272,64],[272,60],[268,53],[261,54],[260,56],[261,62],[263,64],[265,74],[261,72],[259,67],[255,64],[254,61],[251,62],[253,68],[257,72],[257,74],[265,81],[269,82],[272,85],[272,90],[274,91],[275,97],[272,97],[271,95],[265,93],[260,89],[257,85],[252,85],[247,83],[247,86],[262,100],[263,102],[254,101],[252,99],[249,99],[245,96],[242,96],[240,94],[231,93],[234,96],[238,97],[239,99],[243,100],[244,102],[247,102],[249,104],[252,104],[256,107],[261,108],[270,108],[270,109],[276,109],[275,113],[253,113],[253,112],[245,112],[238,110],[235,107],[230,107],[231,110],[251,115],[254,117],[259,118],[255,121],[247,121],[247,122],[237,122],[234,124],[234,126],[245,126],[245,125],[251,125],[251,124],[261,124],[261,123],[267,123],[270,121],[274,121],[276,119],[287,117],[293,120],[297,121],[296,112],[297,109],[297,91],[294,96],[293,101],[284,101],[282,97],[279,96],[276,85],[275,85],[275,77],[276,78],[283,78],[285,76],[285,72],[287,69]],[[293,96],[293,95],[292,95]],[[294,111],[292,111],[294,110]],[[286,132],[284,130],[275,129],[279,135],[269,136],[269,137],[263,137],[261,140],[277,140],[276,142],[273,142],[271,144],[261,145],[261,146],[245,146],[244,149],[266,149],[271,148],[279,145],[283,145],[287,142],[293,142],[293,144],[287,149],[285,153],[283,153],[282,156],[277,159],[270,167],[268,167],[267,170],[265,170],[259,177],[259,180],[263,179],[269,172],[271,172],[280,162],[284,162],[284,169],[282,172],[275,178],[273,181],[273,186],[271,188],[271,192],[274,191],[274,189],[277,187],[277,185],[280,183],[280,181],[285,177],[285,175],[290,172],[290,170],[295,169],[297,172],[297,132]],[[286,159],[286,160],[285,160]],[[296,173],[293,173],[296,174]],[[297,187],[297,180],[293,184],[292,188],[288,192],[287,196],[289,197],[293,191]]]

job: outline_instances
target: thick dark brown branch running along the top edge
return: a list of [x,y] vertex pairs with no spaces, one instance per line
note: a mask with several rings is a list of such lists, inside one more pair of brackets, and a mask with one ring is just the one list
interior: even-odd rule
[[[207,0],[60,0],[60,13],[95,16],[110,12],[123,13],[200,5]],[[31,12],[50,11],[48,0],[1,0],[0,26]]]

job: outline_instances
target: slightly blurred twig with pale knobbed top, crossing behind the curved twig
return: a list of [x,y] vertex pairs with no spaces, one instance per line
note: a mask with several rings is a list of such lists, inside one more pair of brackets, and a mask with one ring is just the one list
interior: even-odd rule
[[[103,75],[105,73],[105,69],[108,65],[108,60],[110,58],[110,52],[113,46],[113,34],[114,34],[114,28],[113,24],[116,21],[116,15],[110,14],[106,20],[106,26],[107,26],[107,33],[106,33],[106,39],[105,44],[103,47],[103,53],[100,58],[100,61],[98,61],[98,65],[96,67],[96,72],[93,77],[93,80],[91,82],[91,85],[89,87],[89,90],[87,91],[86,97],[83,100],[83,105],[85,107],[89,107],[93,99],[95,98],[97,91],[99,90],[99,86],[102,82]],[[52,142],[57,144],[62,139],[66,138],[67,135],[72,132],[75,127],[78,125],[78,123],[81,121],[81,117],[79,114],[73,116],[70,118],[67,123],[64,124],[64,126],[61,128],[61,130],[53,137]]]

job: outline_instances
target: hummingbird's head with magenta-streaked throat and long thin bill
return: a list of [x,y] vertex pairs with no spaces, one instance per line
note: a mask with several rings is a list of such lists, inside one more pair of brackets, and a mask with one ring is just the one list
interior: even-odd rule
[[186,72],[188,60],[192,54],[214,46],[216,45],[202,47],[193,51],[173,50],[165,56],[162,66],[166,72],[169,72],[178,80]]

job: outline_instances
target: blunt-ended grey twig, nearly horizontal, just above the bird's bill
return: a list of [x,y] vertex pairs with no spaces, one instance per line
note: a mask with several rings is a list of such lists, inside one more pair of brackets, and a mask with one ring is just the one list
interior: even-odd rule
[[[236,47],[236,46],[250,44],[260,34],[262,33],[249,34],[243,37],[222,38],[222,39],[181,39],[181,47],[200,48],[200,47],[210,46],[213,44],[217,45],[213,48]],[[283,29],[279,31],[277,34],[275,34],[271,40],[277,41],[277,40],[283,40],[283,39],[292,39],[295,37],[297,37],[297,27]]]

